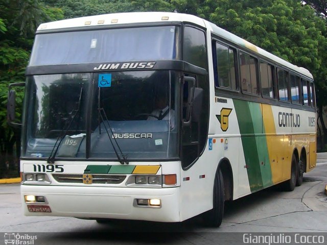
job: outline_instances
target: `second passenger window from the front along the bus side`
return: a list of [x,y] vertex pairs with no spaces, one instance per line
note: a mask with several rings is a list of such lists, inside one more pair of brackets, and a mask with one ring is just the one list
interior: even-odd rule
[[240,52],[241,88],[243,92],[258,94],[256,59]]

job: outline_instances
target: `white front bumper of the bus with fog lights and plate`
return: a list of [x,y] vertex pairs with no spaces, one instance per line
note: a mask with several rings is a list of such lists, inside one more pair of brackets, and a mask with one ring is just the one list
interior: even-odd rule
[[[179,187],[122,188],[21,185],[26,216],[64,216],[180,222]],[[43,196],[44,203],[26,203],[25,195]],[[161,206],[137,206],[136,199],[160,199]],[[34,207],[29,211],[28,206]],[[49,206],[51,212],[35,206]],[[49,209],[47,209],[49,211]]]

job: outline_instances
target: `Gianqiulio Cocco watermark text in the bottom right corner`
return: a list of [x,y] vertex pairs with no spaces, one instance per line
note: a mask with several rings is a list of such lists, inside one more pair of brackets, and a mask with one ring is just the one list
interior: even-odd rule
[[323,244],[325,237],[323,235],[315,234],[267,234],[267,235],[258,235],[251,233],[243,234],[243,242],[249,244]]

